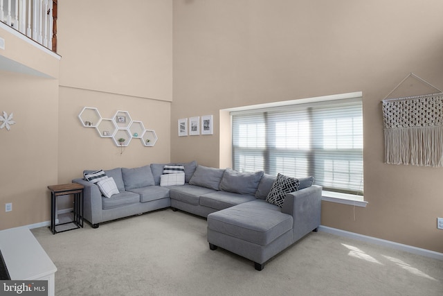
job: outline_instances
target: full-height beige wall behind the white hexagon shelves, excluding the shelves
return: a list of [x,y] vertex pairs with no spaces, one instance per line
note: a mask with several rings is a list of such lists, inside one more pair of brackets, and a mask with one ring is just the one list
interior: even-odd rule
[[[136,167],[170,159],[172,1],[59,1],[59,182],[84,169]],[[78,114],[118,110],[159,138],[154,147],[132,139],[123,153],[109,138],[84,128]]]

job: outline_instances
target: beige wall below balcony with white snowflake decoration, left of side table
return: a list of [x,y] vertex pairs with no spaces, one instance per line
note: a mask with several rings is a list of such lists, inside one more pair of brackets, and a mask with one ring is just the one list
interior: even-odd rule
[[[0,71],[0,229],[50,220],[48,185],[57,184],[58,81]],[[12,202],[12,211],[5,204]]]

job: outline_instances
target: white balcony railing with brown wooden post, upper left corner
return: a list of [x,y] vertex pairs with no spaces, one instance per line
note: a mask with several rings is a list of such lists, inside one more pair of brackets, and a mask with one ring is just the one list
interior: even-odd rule
[[57,0],[0,0],[0,21],[57,52]]

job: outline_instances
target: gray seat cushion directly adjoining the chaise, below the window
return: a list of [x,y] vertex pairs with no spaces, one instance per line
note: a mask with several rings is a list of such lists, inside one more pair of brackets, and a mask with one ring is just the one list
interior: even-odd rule
[[200,205],[213,209],[226,209],[243,202],[255,200],[253,195],[244,195],[226,191],[215,191],[200,196]]

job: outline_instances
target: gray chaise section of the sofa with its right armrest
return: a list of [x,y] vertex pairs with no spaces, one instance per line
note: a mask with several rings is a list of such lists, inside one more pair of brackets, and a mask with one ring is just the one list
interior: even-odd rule
[[254,262],[256,270],[320,225],[320,186],[288,193],[282,207],[253,200],[208,215],[210,250],[222,247]]

